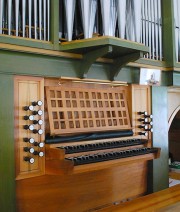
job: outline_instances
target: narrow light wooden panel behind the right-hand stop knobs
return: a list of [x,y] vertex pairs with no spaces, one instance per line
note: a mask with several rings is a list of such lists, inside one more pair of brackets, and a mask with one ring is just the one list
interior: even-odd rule
[[[139,125],[143,125],[143,123],[139,121],[139,119],[143,118],[143,116],[139,115],[138,112],[144,111],[151,114],[150,87],[132,85],[132,127],[135,135],[143,131],[143,129],[138,127]],[[150,134],[151,133],[148,133],[149,139],[151,138]],[[147,138],[146,136],[142,137]]]

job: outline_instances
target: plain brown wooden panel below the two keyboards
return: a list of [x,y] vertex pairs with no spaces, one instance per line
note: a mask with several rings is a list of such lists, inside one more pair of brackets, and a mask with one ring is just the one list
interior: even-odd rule
[[88,211],[144,195],[147,163],[17,181],[17,211]]

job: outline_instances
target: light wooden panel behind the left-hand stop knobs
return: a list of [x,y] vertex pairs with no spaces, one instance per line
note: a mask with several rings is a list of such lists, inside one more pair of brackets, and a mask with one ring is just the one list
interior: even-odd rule
[[[34,134],[30,130],[25,130],[24,125],[32,125],[32,121],[24,120],[24,116],[32,115],[32,111],[25,111],[24,106],[29,106],[34,101],[42,100],[44,102],[44,84],[43,78],[33,77],[15,77],[15,149],[16,149],[16,179],[22,179],[44,173],[44,157],[39,157],[24,148],[34,148],[35,151],[43,151],[43,148],[35,147],[29,142],[24,142],[24,138],[34,138],[35,142],[43,142],[44,135]],[[42,106],[35,106],[34,110],[43,110]],[[34,120],[43,120],[34,115]],[[44,129],[44,125],[33,125],[35,129]],[[24,157],[34,158],[33,164],[24,161]]]

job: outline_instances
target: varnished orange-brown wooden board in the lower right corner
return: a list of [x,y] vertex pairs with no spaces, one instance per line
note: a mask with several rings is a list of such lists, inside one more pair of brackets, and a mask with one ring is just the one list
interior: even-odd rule
[[131,202],[110,206],[103,212],[178,212],[180,211],[180,184],[168,189],[132,200]]

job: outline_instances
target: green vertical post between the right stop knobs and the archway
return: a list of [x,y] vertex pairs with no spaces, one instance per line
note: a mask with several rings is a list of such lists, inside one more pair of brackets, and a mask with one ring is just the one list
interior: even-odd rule
[[152,87],[153,146],[161,148],[160,158],[153,160],[150,164],[152,192],[169,187],[167,101],[167,87]]

